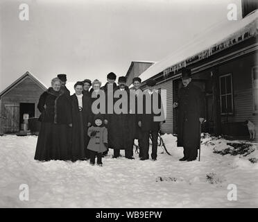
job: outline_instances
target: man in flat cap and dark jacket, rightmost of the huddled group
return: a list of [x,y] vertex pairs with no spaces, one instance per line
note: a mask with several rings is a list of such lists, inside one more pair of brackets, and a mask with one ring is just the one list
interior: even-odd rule
[[[160,130],[160,126],[165,122],[164,110],[162,106],[162,99],[160,94],[153,87],[156,85],[155,80],[147,80],[147,89],[144,90],[143,98],[143,114],[139,114],[138,125],[141,128],[142,134],[142,156],[140,160],[148,160],[148,150],[149,150],[149,136],[152,137],[152,160],[157,160],[157,137]],[[153,105],[154,104],[154,105]],[[160,108],[160,113],[155,113],[153,106]],[[148,107],[150,107],[150,112],[148,112]],[[155,117],[159,117],[155,119]]]

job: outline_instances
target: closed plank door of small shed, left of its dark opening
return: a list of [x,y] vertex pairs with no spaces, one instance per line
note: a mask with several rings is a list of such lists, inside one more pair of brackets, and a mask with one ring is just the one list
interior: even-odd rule
[[19,105],[4,105],[4,133],[19,132]]

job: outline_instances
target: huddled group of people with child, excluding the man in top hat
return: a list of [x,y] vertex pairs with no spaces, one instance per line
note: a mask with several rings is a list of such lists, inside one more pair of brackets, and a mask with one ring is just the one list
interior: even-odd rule
[[[67,76],[58,74],[51,80],[51,87],[39,99],[37,108],[40,110],[40,133],[37,139],[35,160],[90,160],[90,164],[102,166],[102,157],[107,155],[109,148],[114,149],[114,158],[120,157],[121,150],[125,150],[126,158],[132,160],[135,139],[138,139],[140,160],[148,160],[149,135],[152,135],[151,159],[157,160],[157,137],[164,119],[155,121],[159,116],[153,109],[137,112],[139,100],[137,96],[142,92],[141,78],[133,78],[132,90],[126,86],[126,77],[117,79],[113,72],[107,74],[107,83],[101,87],[99,80],[89,79],[78,81],[74,85],[75,93],[70,95],[67,89]],[[146,94],[143,104],[158,99],[162,106],[161,96],[153,90],[155,80],[146,81]],[[91,88],[92,87],[92,88]],[[112,89],[112,90],[110,90]],[[99,99],[99,92],[103,92],[105,99],[103,112],[94,112],[94,102]],[[128,100],[120,103],[121,112],[109,112],[121,97],[114,96],[115,92],[126,92]],[[130,110],[130,94],[135,93],[135,110]],[[112,104],[108,100],[112,96]],[[102,104],[98,104],[101,106]],[[110,106],[111,105],[111,106]],[[142,104],[141,104],[142,105]]]

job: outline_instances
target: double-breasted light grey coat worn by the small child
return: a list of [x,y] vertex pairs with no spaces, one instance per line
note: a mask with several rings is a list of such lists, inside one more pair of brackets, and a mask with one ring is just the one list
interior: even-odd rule
[[[91,133],[93,131],[97,131],[96,135],[94,137],[91,137]],[[88,144],[88,150],[90,151],[96,151],[98,153],[103,153],[107,151],[107,148],[105,147],[104,143],[107,143],[107,128],[105,126],[99,127],[99,126],[91,126],[88,129],[88,135],[90,137],[89,144]]]

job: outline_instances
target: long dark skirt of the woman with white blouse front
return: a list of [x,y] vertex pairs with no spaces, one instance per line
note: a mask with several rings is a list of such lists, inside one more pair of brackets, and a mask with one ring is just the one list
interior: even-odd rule
[[[86,127],[86,126],[85,126]],[[83,113],[79,112],[73,122],[71,160],[85,160],[85,138],[86,133],[83,127]]]

